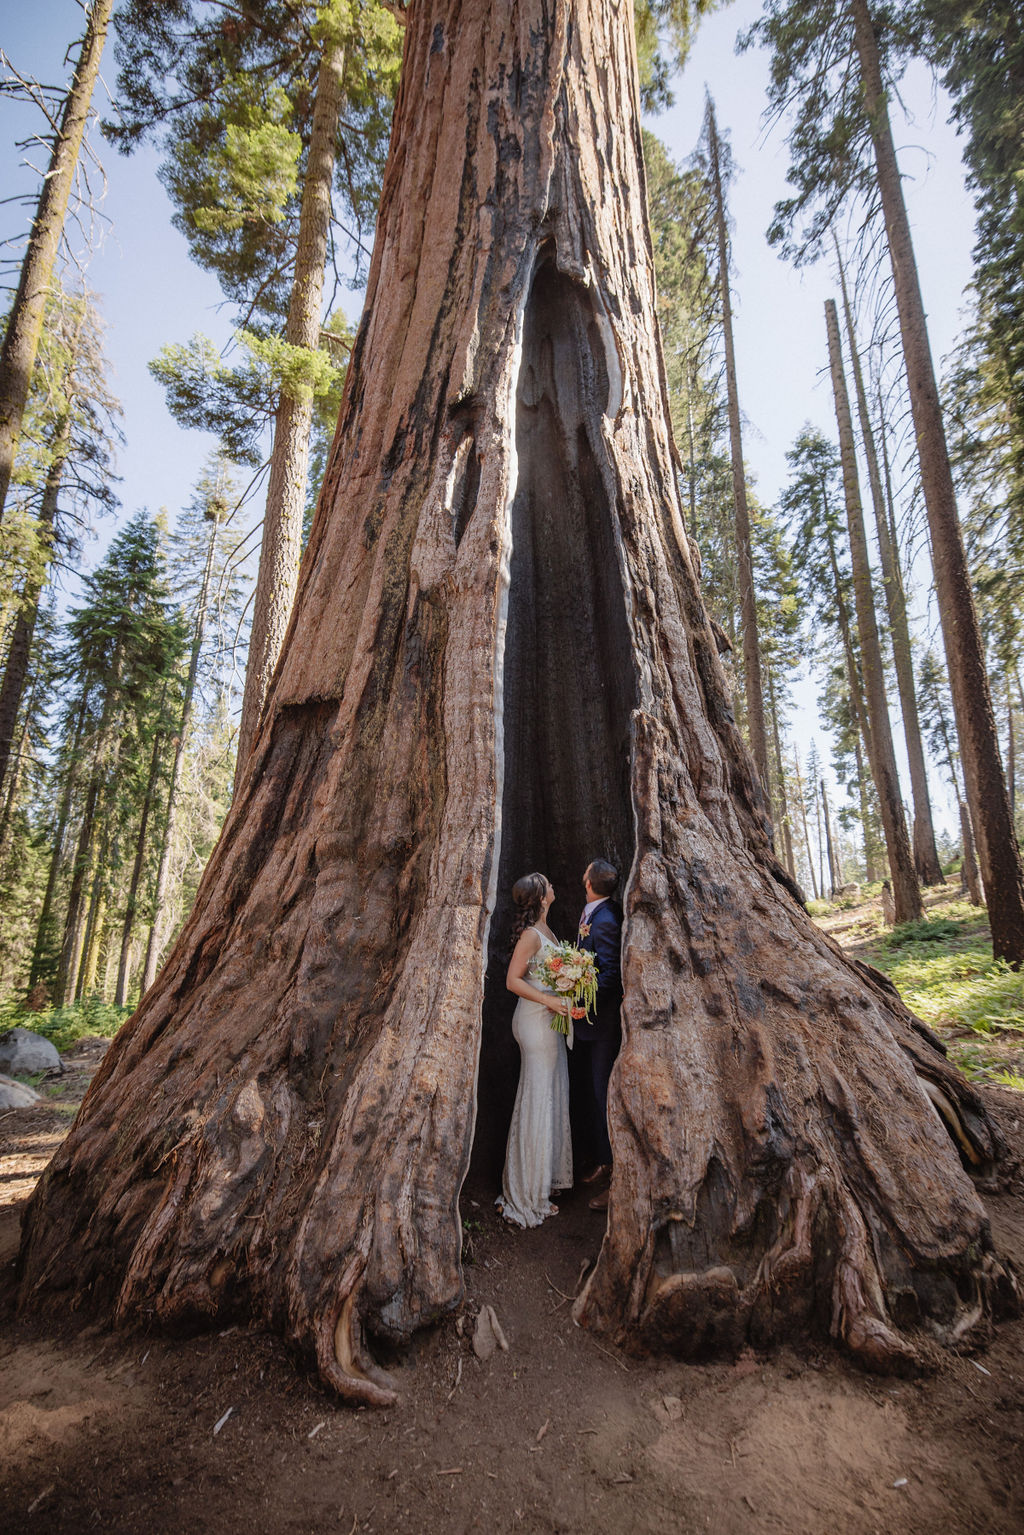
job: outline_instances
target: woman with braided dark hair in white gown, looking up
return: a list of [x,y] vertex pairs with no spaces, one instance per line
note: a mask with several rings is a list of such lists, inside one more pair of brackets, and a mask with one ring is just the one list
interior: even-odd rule
[[557,1214],[551,1190],[573,1187],[567,1041],[551,1027],[551,1013],[570,1018],[571,1002],[545,990],[536,979],[539,961],[557,942],[548,927],[553,900],[554,890],[542,873],[524,875],[513,886],[514,947],[505,984],[519,996],[513,1036],[522,1064],[502,1197],[496,1203],[517,1226],[539,1226],[545,1216]]

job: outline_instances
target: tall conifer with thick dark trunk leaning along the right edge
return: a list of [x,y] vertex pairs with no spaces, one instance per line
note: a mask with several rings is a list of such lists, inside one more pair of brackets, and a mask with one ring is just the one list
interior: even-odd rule
[[[771,107],[792,107],[795,195],[769,232],[806,259],[852,196],[881,207],[907,370],[938,611],[996,956],[1024,962],[1024,867],[1010,818],[978,614],[956,513],[889,92],[915,46],[907,12],[874,0],[765,0],[749,34],[772,48]],[[855,68],[851,69],[851,61]],[[794,235],[795,226],[806,224]]]

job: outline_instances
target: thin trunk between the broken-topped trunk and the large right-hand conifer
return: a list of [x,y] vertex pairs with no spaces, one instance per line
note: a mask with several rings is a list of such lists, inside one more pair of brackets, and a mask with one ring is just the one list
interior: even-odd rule
[[864,375],[860,365],[860,353],[857,350],[854,315],[851,312],[849,295],[846,292],[846,272],[843,270],[838,241],[835,241],[835,261],[843,292],[843,316],[846,321],[846,339],[851,348],[857,416],[860,421],[860,437],[864,448],[864,459],[867,462],[867,482],[870,485],[870,503],[875,513],[875,534],[878,537],[878,556],[881,559],[881,583],[886,593],[889,637],[892,640],[892,659],[897,668],[903,735],[907,748],[907,764],[910,768],[910,794],[913,797],[913,866],[921,884],[943,884],[943,869],[938,861],[935,827],[932,824],[932,801],[927,792],[927,768],[924,766],[924,744],[921,741],[921,725],[918,721],[918,700],[917,688],[913,685],[913,655],[910,651],[910,625],[907,623],[907,603],[903,591],[903,576],[900,573],[900,556],[892,539],[889,537],[889,513],[881,485],[881,473],[878,470],[875,434],[872,431],[870,414],[867,411]]

